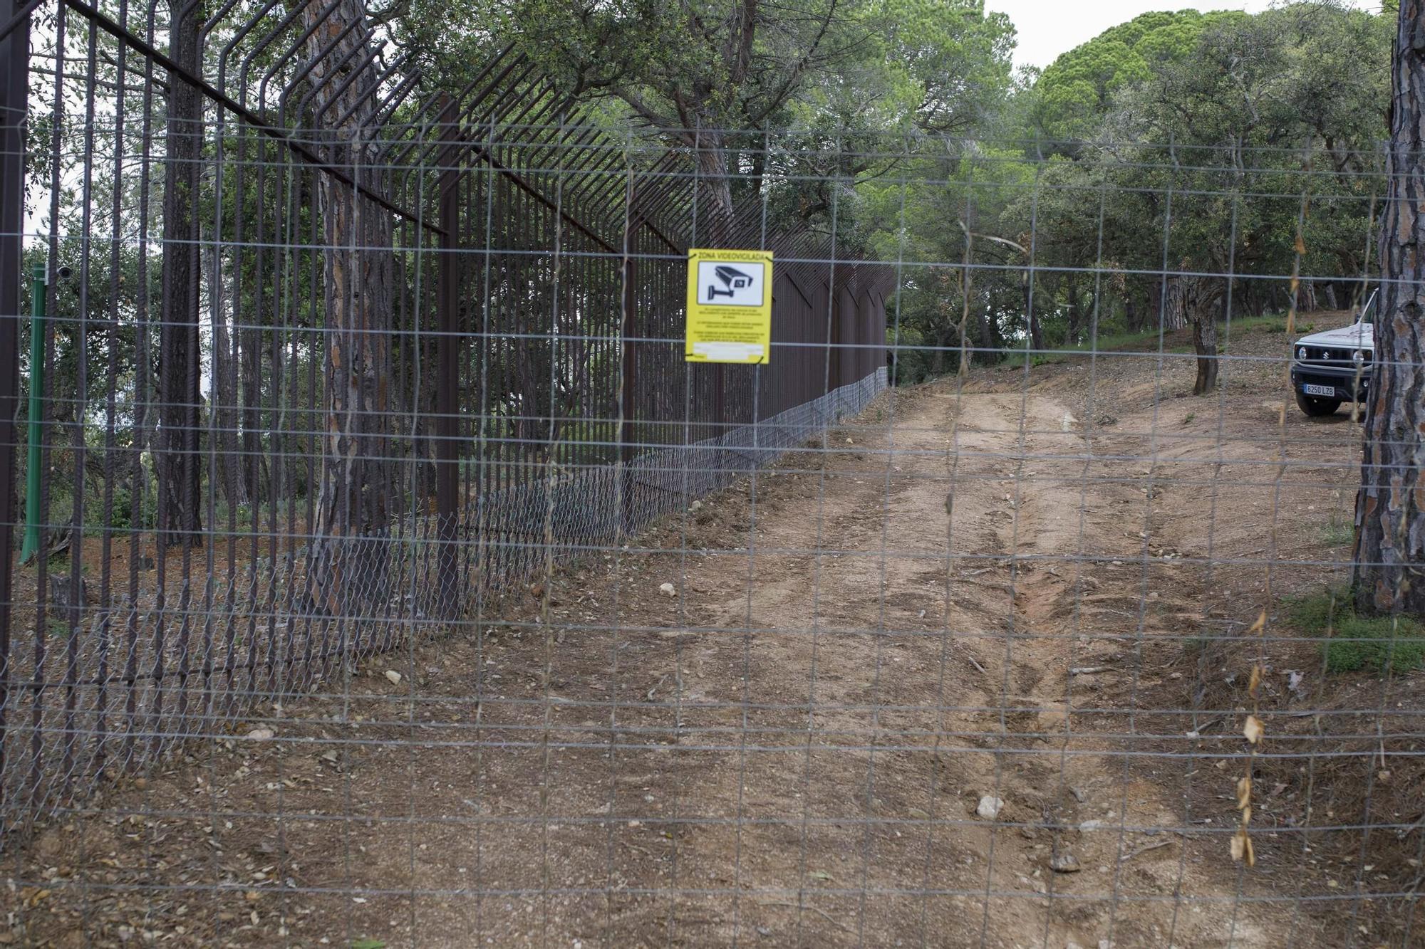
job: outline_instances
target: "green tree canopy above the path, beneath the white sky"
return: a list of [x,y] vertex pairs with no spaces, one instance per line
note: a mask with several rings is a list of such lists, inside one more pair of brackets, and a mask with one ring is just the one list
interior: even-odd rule
[[516,44],[607,121],[695,147],[712,208],[757,190],[775,222],[835,218],[844,252],[975,265],[912,268],[902,345],[1171,329],[1193,318],[1171,272],[1231,271],[1238,312],[1278,309],[1282,282],[1250,278],[1291,269],[1305,195],[1302,302],[1345,305],[1374,266],[1392,10],[1146,13],[1016,74],[979,0],[462,0],[455,31],[430,3],[400,7],[400,41],[443,70]]

